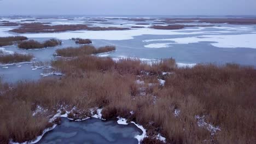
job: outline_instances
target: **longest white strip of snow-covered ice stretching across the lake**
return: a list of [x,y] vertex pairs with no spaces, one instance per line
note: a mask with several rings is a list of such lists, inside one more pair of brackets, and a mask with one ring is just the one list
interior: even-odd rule
[[[193,29],[179,29],[179,30],[159,30],[152,28],[140,28],[123,31],[73,31],[73,32],[60,32],[60,33],[27,33],[22,34],[28,38],[58,38],[58,39],[71,39],[71,38],[89,38],[89,39],[104,39],[104,40],[128,40],[139,35],[190,35],[190,34],[211,34],[212,31],[201,31],[202,27]],[[186,32],[184,32],[186,31]],[[189,32],[191,31],[191,32]]]

